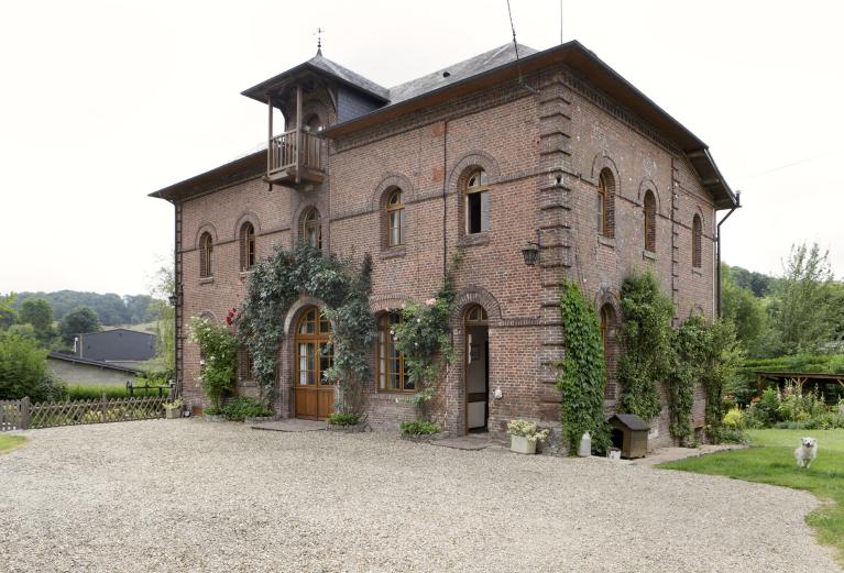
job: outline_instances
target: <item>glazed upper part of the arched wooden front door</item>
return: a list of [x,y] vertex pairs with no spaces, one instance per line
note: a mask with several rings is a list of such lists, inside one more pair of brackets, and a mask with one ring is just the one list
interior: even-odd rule
[[331,367],[331,323],[317,308],[307,307],[296,324],[296,381],[300,386],[326,386],[322,373]]

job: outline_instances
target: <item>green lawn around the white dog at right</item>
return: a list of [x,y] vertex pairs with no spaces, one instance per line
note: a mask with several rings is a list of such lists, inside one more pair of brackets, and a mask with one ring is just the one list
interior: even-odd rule
[[[824,505],[805,521],[818,539],[837,550],[844,563],[844,430],[749,430],[752,448],[690,458],[659,467],[734,480],[781,485],[811,492]],[[818,438],[818,459],[810,470],[798,470],[793,451],[800,438]]]

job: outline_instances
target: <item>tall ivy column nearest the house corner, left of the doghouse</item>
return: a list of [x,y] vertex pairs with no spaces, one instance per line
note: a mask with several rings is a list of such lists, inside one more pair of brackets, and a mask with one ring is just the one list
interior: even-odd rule
[[584,432],[592,436],[592,449],[603,453],[610,445],[610,429],[604,420],[606,372],[601,324],[598,315],[577,285],[567,282],[560,296],[566,360],[559,364],[557,387],[562,390],[560,422],[569,452]]

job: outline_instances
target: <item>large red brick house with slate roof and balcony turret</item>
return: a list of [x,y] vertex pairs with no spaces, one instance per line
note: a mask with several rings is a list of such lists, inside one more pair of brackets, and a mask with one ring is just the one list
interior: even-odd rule
[[[221,320],[242,300],[250,265],[276,244],[372,254],[375,427],[414,416],[396,399],[410,389],[391,348],[395,309],[436,293],[458,247],[459,359],[435,406],[458,434],[497,433],[514,417],[558,421],[563,278],[601,316],[607,411],[627,274],[651,269],[678,320],[715,313],[715,212],[736,197],[702,141],[578,42],[518,46],[518,57],[505,45],[390,89],[318,53],[243,95],[267,107],[267,150],[152,194],[175,206],[178,377],[195,407],[206,400],[188,319]],[[528,243],[538,244],[535,264]],[[333,388],[319,384],[319,306],[303,297],[284,318],[283,416],[331,407]],[[249,377],[241,368],[239,393],[260,392]],[[702,418],[699,395],[695,425]],[[654,426],[656,441],[668,440],[667,419]]]

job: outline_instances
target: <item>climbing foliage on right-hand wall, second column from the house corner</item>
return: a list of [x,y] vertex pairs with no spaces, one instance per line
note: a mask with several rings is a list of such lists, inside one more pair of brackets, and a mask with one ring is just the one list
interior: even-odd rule
[[622,385],[620,409],[649,421],[661,410],[658,385],[671,371],[673,306],[649,272],[624,280],[621,304],[625,350],[617,371]]

